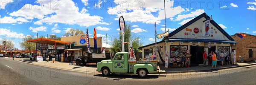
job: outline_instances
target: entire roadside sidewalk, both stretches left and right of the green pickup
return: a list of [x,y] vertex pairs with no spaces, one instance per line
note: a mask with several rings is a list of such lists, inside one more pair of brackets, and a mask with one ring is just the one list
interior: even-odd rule
[[[23,61],[23,62],[29,62],[33,63],[35,65],[41,65],[41,66],[46,66],[46,67],[51,67],[51,68],[59,68],[59,69],[64,69],[64,70],[72,70],[72,71],[80,71],[80,72],[93,72],[97,74],[101,74],[99,72],[96,72],[97,66],[95,63],[93,64],[87,64],[87,65],[76,65],[73,63],[73,65],[69,65],[69,62],[58,62],[56,63],[51,63],[50,62],[36,62],[33,60],[30,60],[29,58],[15,58],[17,61]],[[165,68],[163,65],[159,65],[160,71],[159,73],[155,74],[170,74],[170,73],[186,73],[186,72],[198,72],[198,71],[218,71],[221,69],[227,69],[227,68],[237,68],[237,67],[244,67],[244,66],[250,66],[250,65],[256,65],[255,62],[241,62],[241,63],[236,63],[235,65],[227,65],[224,64],[223,66],[218,65],[216,68],[211,68],[212,66],[195,66],[195,67],[189,67],[189,68]]]

